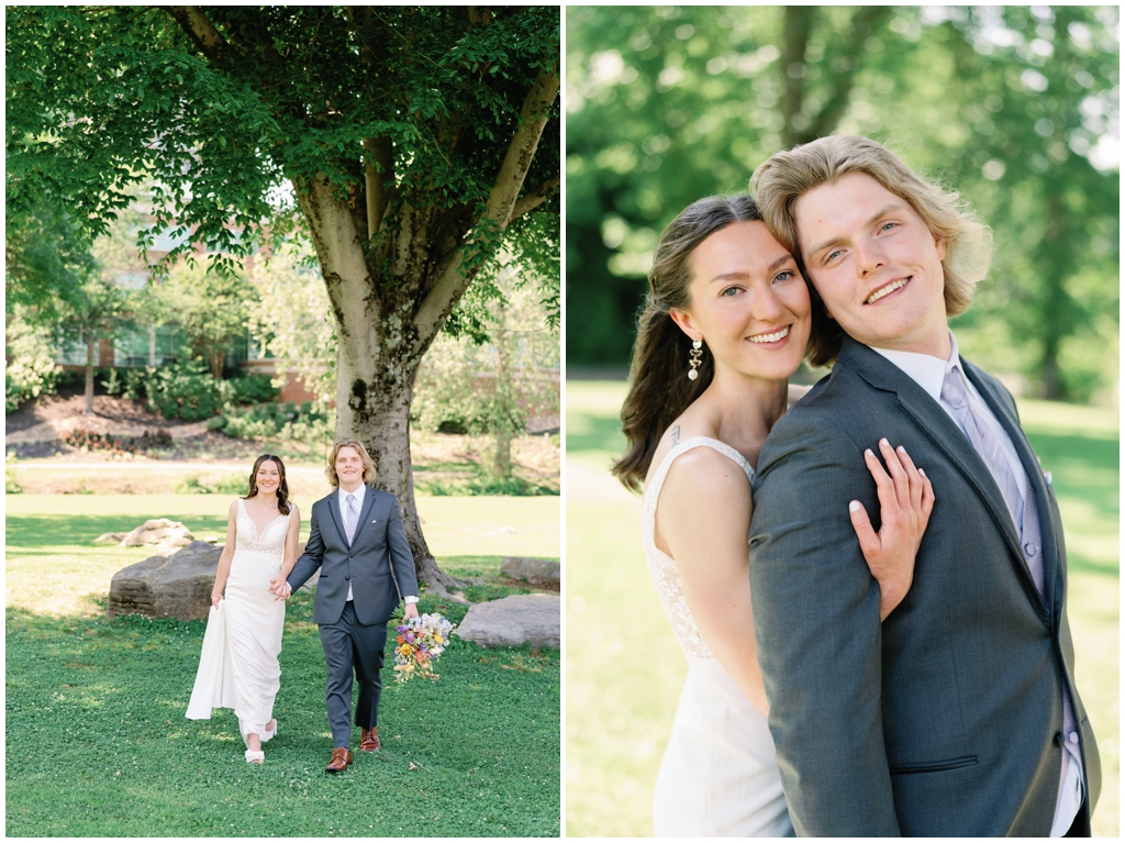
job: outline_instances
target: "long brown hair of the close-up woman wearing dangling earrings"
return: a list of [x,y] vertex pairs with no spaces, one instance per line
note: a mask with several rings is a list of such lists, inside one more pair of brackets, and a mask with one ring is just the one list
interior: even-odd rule
[[709,196],[684,208],[660,233],[648,273],[645,310],[637,324],[629,394],[621,407],[621,430],[629,447],[613,466],[613,474],[626,488],[641,490],[664,431],[714,377],[714,361],[704,349],[699,377],[687,378],[692,341],[670,315],[673,308],[691,307],[692,252],[728,225],[756,221],[762,221],[762,212],[753,197]]

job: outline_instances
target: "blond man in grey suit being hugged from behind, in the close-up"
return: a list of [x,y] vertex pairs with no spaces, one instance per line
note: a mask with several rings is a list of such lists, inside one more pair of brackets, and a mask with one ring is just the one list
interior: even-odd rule
[[[987,271],[988,230],[862,137],[780,152],[755,188],[817,294],[810,357],[836,361],[762,449],[750,529],[796,832],[1088,836],[1100,768],[1051,474],[947,325]],[[937,500],[910,591],[880,624],[846,508],[879,512],[864,452],[884,437]]]

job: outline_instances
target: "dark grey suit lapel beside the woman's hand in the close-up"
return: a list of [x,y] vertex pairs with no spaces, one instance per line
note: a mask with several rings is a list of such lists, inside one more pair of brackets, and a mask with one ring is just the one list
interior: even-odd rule
[[[839,361],[854,369],[876,389],[896,393],[899,410],[926,434],[972,486],[1012,555],[1019,560],[1023,575],[1035,590],[1035,580],[1024,559],[1019,536],[1016,535],[1016,526],[1011,522],[1004,494],[964,431],[909,375],[878,351],[872,351],[866,346],[845,337]],[[940,497],[940,490],[934,491]]]

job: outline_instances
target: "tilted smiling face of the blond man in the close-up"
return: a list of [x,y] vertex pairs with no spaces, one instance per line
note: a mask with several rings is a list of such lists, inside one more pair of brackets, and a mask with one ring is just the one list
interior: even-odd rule
[[945,359],[945,242],[866,173],[818,185],[794,205],[809,273],[835,319],[867,346]]

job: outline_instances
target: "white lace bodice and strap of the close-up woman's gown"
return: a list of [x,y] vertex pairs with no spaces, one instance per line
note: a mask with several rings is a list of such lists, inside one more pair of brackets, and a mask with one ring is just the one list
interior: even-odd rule
[[[641,502],[641,535],[645,542],[645,556],[648,562],[648,572],[652,576],[652,584],[656,593],[660,597],[664,611],[672,622],[672,629],[680,640],[680,646],[688,658],[714,658],[711,648],[706,646],[703,636],[700,635],[699,627],[687,609],[687,599],[684,597],[683,588],[680,584],[680,571],[676,562],[656,546],[656,504],[660,500],[660,488],[664,486],[664,478],[668,475],[668,469],[673,461],[692,448],[713,448],[723,456],[735,460],[744,472],[746,478],[753,483],[754,469],[746,461],[745,457],[726,442],[710,437],[692,437],[681,442],[665,456],[664,461],[657,467],[652,478],[645,486],[645,496]],[[747,538],[746,553],[749,554],[749,536]]]

